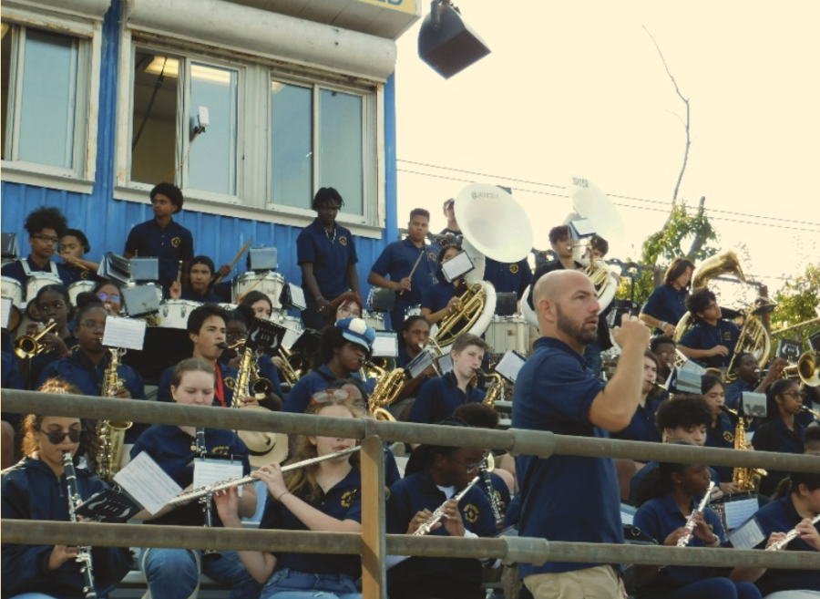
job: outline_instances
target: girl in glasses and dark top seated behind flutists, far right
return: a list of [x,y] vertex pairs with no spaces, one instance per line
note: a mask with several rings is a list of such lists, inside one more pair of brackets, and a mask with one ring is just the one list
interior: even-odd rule
[[[769,419],[754,433],[752,445],[758,451],[803,453],[805,427],[796,417],[803,408],[800,384],[792,378],[781,378],[766,391]],[[772,495],[778,483],[788,475],[780,470],[768,470],[760,481],[762,495]]]

